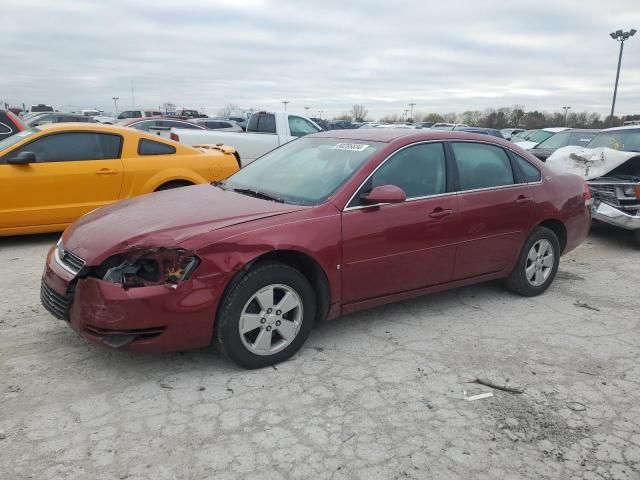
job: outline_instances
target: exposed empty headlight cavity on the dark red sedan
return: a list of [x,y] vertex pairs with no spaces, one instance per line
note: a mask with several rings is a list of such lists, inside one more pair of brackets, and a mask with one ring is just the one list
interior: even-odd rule
[[199,263],[200,259],[188,250],[141,249],[110,257],[96,273],[105,282],[118,283],[124,289],[163,284],[175,288]]

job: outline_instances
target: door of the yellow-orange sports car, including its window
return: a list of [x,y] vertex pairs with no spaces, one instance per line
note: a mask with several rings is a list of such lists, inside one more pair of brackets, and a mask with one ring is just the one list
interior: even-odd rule
[[[122,184],[122,137],[93,132],[53,133],[0,158],[0,227],[72,222],[116,201]],[[33,152],[36,162],[7,159]]]

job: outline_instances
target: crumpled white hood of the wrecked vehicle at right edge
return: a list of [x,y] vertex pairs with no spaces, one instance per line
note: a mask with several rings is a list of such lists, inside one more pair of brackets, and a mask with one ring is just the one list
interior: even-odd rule
[[546,164],[557,172],[575,173],[585,180],[602,177],[632,158],[638,152],[623,152],[613,148],[562,147],[556,150]]

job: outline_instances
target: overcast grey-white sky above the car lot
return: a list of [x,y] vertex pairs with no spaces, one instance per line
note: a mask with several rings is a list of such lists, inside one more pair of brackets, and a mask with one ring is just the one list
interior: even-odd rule
[[[223,104],[333,116],[527,109],[607,113],[640,0],[0,0],[0,101],[61,110]],[[640,113],[640,33],[616,107]]]

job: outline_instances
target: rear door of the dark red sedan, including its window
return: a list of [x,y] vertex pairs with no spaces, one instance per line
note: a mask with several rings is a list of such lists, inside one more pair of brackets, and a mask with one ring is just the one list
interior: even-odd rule
[[459,179],[454,280],[510,266],[529,229],[534,199],[502,147],[451,142]]

